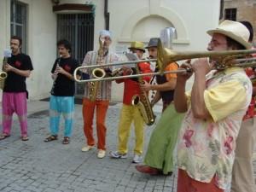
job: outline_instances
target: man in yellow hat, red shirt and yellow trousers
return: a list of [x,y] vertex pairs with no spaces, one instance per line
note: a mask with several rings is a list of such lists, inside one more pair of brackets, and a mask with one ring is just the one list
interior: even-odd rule
[[[132,53],[136,53],[139,59],[143,58],[143,49],[144,44],[142,42],[132,42],[131,47],[129,48]],[[141,73],[151,73],[150,64],[148,62],[138,63],[138,67]],[[124,75],[131,73],[132,70],[130,67],[123,67]],[[151,79],[150,76],[146,76],[143,80],[149,82]],[[117,83],[124,83],[124,98],[123,98],[123,107],[120,113],[119,119],[119,142],[118,150],[110,152],[112,158],[115,159],[125,159],[127,158],[127,142],[130,135],[131,123],[133,121],[135,128],[135,148],[134,148],[134,157],[133,163],[140,163],[143,160],[143,137],[144,137],[144,119],[137,105],[132,105],[131,101],[133,96],[142,96],[142,91],[140,89],[140,82],[137,79],[119,79],[116,80]],[[148,96],[146,94],[146,96]],[[149,103],[149,102],[148,102]],[[149,104],[150,106],[150,104]],[[151,106],[150,106],[151,107]]]

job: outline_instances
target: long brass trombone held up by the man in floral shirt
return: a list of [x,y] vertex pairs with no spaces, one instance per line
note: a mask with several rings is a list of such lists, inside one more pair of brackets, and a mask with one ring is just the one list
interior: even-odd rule
[[[161,42],[159,41],[157,46],[157,59],[148,59],[148,60],[137,60],[137,61],[124,61],[124,62],[116,62],[116,63],[106,63],[99,65],[91,65],[91,66],[82,66],[77,67],[74,71],[74,79],[78,83],[86,83],[86,82],[94,82],[94,81],[103,81],[103,80],[115,80],[115,79],[127,79],[127,78],[137,78],[148,75],[163,75],[166,73],[184,73],[188,72],[188,69],[177,69],[174,71],[164,71],[166,66],[169,63],[175,61],[189,60],[195,58],[202,57],[210,57],[210,58],[218,58],[218,62],[215,65],[216,69],[224,69],[227,67],[255,67],[256,66],[256,58],[245,58],[245,59],[235,59],[238,57],[244,57],[247,55],[251,55],[256,53],[256,49],[244,49],[244,50],[227,50],[227,51],[174,51],[172,49],[163,48]],[[159,68],[159,72],[157,73],[143,73],[143,74],[131,74],[117,77],[94,77],[94,79],[78,79],[77,73],[82,69],[93,69],[99,70],[99,67],[110,67],[110,66],[120,66],[125,64],[134,64],[139,62],[150,62],[156,61],[156,65]]]

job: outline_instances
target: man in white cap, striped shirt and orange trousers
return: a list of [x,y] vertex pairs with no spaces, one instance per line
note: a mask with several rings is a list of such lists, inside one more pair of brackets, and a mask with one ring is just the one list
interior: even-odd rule
[[[109,46],[112,43],[111,32],[108,30],[100,31],[99,36],[100,49],[89,51],[83,61],[83,66],[90,66],[97,64],[99,67],[104,63],[119,61],[119,56],[110,52]],[[99,58],[100,57],[100,58]],[[106,69],[108,70],[108,69]],[[83,71],[88,75],[90,71]],[[84,136],[87,139],[87,144],[82,148],[82,151],[89,151],[94,148],[96,142],[93,137],[93,117],[96,109],[96,132],[98,137],[98,158],[105,157],[106,154],[106,131],[105,118],[108,111],[108,104],[111,99],[111,81],[102,81],[98,84],[95,101],[90,100],[90,90],[93,89],[92,84],[88,83],[84,86],[84,100],[83,100],[83,118],[84,118]]]

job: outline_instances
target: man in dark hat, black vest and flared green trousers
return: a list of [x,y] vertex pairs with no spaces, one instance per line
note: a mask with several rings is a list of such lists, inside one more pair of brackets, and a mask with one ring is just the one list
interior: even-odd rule
[[[150,58],[157,57],[157,44],[160,38],[150,38],[148,42],[148,55]],[[167,65],[165,71],[177,70],[175,62]],[[155,69],[155,72],[158,68]],[[162,115],[151,134],[148,149],[144,158],[144,165],[137,165],[138,172],[150,175],[170,175],[174,169],[172,151],[177,143],[177,133],[182,120],[182,114],[176,114],[173,106],[173,94],[176,86],[177,75],[157,75],[157,84],[142,85],[143,90],[157,90],[151,104],[152,106],[160,99],[163,102]]]

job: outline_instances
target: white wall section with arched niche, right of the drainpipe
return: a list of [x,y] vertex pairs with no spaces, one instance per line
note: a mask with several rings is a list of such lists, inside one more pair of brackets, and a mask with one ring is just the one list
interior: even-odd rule
[[[113,46],[116,51],[129,47],[131,41],[148,43],[148,39],[159,37],[166,26],[177,29],[173,49],[206,50],[210,37],[207,30],[218,26],[219,0],[111,0],[110,30],[114,32]],[[193,79],[189,81],[191,87]],[[121,85],[114,84],[113,100],[122,97]]]

